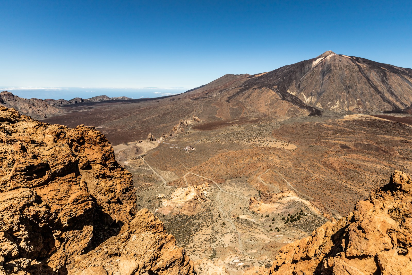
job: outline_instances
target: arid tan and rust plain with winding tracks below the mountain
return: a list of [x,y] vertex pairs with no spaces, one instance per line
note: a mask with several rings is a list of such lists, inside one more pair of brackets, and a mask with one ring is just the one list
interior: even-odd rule
[[[400,117],[409,118],[387,118]],[[215,127],[199,119],[161,142],[137,138],[114,146],[143,148],[119,159],[133,174],[138,207],[164,222],[199,274],[271,266],[284,244],[345,216],[391,171],[411,168],[407,123],[345,111]],[[154,148],[144,152],[147,143]],[[282,219],[301,210],[299,220]]]

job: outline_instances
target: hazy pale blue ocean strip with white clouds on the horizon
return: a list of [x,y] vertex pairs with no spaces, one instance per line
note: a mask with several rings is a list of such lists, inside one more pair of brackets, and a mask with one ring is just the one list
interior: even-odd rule
[[[189,88],[190,89],[190,88]],[[173,88],[77,88],[77,87],[1,87],[0,91],[7,90],[14,95],[24,98],[40,99],[65,99],[71,100],[75,97],[90,98],[98,95],[107,95],[108,97],[162,97],[165,95],[175,95],[185,92],[189,89],[183,87]]]

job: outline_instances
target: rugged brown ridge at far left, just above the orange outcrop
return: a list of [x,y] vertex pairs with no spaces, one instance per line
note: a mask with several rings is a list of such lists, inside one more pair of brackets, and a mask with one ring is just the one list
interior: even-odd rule
[[7,108],[14,108],[26,116],[31,116],[35,119],[45,119],[50,116],[58,116],[64,114],[65,111],[61,108],[54,107],[37,98],[21,98],[13,95],[11,92],[0,92],[0,105]]

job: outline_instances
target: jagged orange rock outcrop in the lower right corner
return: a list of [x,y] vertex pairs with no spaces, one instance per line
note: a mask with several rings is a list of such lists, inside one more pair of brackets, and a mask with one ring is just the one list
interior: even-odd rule
[[395,171],[348,216],[283,247],[269,274],[412,274],[410,176]]

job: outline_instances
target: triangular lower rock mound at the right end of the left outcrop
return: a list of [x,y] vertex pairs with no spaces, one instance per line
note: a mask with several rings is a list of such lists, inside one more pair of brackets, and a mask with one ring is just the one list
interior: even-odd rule
[[140,210],[136,218],[122,227],[119,235],[78,256],[72,266],[69,274],[84,272],[87,266],[103,266],[109,274],[120,272],[122,275],[193,273],[185,250],[176,247],[174,237],[167,234],[163,223],[147,209]]

